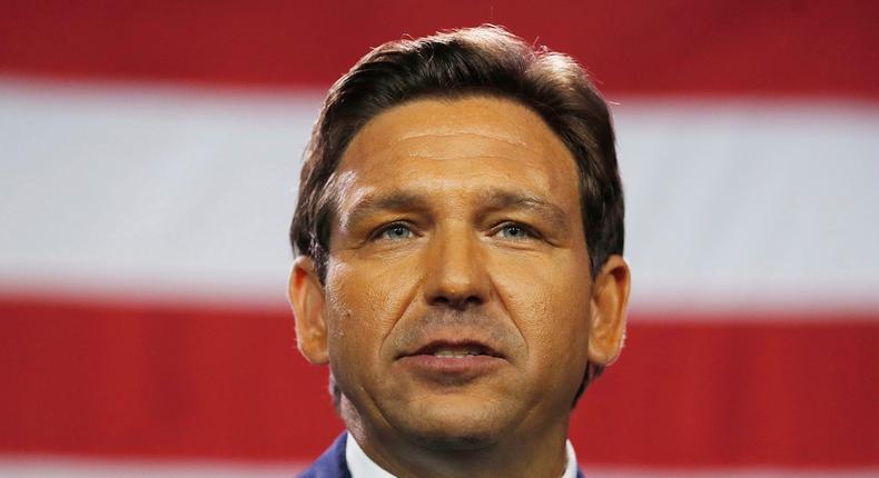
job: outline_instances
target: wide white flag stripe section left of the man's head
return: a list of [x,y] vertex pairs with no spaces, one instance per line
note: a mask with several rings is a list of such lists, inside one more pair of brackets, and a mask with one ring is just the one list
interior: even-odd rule
[[0,83],[7,286],[283,297],[312,97]]

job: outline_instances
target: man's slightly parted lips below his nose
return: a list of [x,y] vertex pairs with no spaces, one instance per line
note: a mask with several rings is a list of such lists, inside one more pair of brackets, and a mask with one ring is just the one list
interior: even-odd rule
[[[480,355],[463,358],[435,356],[434,352],[441,349],[470,349]],[[433,340],[415,351],[401,355],[397,362],[403,370],[440,385],[464,385],[507,364],[501,352],[478,340]]]

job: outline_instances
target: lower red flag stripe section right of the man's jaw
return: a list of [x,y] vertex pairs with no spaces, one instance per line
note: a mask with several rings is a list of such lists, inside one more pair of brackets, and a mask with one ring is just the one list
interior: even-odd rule
[[[876,319],[873,313],[871,319]],[[879,464],[879,322],[635,325],[573,424],[586,461]]]

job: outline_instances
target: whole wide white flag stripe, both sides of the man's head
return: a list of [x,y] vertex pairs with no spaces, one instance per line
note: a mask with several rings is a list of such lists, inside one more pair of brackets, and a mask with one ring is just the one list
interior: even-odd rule
[[[0,288],[283,302],[319,93],[0,81]],[[879,307],[879,108],[614,108],[633,308]]]

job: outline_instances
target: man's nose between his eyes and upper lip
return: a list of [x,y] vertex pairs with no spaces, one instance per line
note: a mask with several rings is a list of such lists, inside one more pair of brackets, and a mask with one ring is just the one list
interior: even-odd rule
[[464,310],[488,300],[491,280],[478,238],[472,231],[437,235],[426,263],[425,300]]

